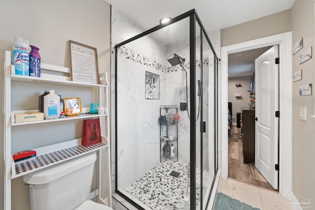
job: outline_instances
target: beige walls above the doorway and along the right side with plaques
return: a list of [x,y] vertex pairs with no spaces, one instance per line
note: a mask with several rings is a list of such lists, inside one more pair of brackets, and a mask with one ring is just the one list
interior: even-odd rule
[[[303,37],[303,48],[292,57],[292,72],[302,69],[302,80],[292,84],[292,190],[315,205],[315,119],[313,94],[299,95],[299,86],[315,85],[314,58],[299,64],[299,55],[315,47],[315,0],[295,0],[290,10],[221,30],[221,46],[292,31],[292,45]],[[307,108],[307,121],[300,120],[300,107]],[[234,115],[234,114],[233,114]],[[288,131],[290,132],[290,131]],[[280,172],[281,173],[281,172]]]

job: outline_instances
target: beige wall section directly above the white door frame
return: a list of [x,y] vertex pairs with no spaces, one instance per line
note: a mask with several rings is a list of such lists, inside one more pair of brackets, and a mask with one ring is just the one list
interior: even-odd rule
[[221,46],[291,31],[290,10],[221,30]]

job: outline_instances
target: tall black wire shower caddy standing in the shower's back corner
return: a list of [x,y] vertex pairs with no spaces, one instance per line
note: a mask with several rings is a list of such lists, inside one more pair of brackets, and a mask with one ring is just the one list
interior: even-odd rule
[[[163,116],[166,114],[175,114],[177,113],[177,106],[176,105],[163,105],[159,107],[159,115]],[[171,139],[170,136],[173,136]],[[160,124],[159,130],[159,137],[160,137],[160,162],[174,159],[178,161],[178,122],[173,121],[172,123],[167,123],[167,125]],[[173,145],[175,147],[175,155],[171,157],[170,152],[165,152],[163,150],[164,146]]]

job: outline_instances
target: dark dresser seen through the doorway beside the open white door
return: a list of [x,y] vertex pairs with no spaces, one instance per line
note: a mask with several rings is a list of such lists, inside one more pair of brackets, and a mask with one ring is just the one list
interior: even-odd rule
[[244,163],[255,161],[255,109],[242,107],[242,139]]

